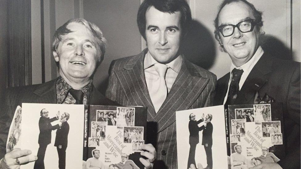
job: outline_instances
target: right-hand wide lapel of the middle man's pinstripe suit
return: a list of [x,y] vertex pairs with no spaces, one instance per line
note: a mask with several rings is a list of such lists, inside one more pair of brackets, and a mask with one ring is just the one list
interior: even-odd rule
[[201,77],[192,63],[184,59],[167,98],[153,119],[158,122],[158,132],[175,122],[175,111],[189,109],[208,82],[208,78]]

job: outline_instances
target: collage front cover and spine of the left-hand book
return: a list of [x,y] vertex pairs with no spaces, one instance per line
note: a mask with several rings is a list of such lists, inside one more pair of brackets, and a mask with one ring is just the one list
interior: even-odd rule
[[144,168],[145,107],[85,105],[83,168]]

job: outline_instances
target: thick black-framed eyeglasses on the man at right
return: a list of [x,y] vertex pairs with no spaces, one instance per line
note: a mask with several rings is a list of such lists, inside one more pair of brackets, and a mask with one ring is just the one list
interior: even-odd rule
[[238,22],[236,25],[228,24],[228,25],[221,25],[217,27],[218,31],[221,32],[221,34],[224,37],[231,36],[234,33],[235,27],[238,28],[238,30],[242,33],[246,32],[252,32],[255,25],[257,24],[255,19],[247,19],[241,22]]

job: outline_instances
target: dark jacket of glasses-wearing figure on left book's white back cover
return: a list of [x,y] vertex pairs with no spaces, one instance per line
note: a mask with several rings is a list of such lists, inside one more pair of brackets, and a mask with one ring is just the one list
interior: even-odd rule
[[39,119],[39,144],[48,145],[51,143],[51,131],[58,129],[60,126],[57,124],[52,126],[50,123],[57,120],[56,117],[51,119],[41,116]]

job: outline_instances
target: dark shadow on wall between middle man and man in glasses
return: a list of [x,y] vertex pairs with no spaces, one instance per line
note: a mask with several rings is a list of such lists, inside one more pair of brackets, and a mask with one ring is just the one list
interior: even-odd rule
[[209,69],[216,58],[215,38],[204,25],[192,20],[183,42],[183,54],[190,62]]

